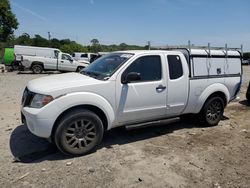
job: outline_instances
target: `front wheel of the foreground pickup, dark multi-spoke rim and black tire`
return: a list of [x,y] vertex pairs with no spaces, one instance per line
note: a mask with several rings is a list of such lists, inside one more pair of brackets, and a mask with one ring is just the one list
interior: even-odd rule
[[95,113],[75,109],[59,122],[54,141],[63,153],[80,156],[93,151],[101,143],[103,133],[102,121]]

